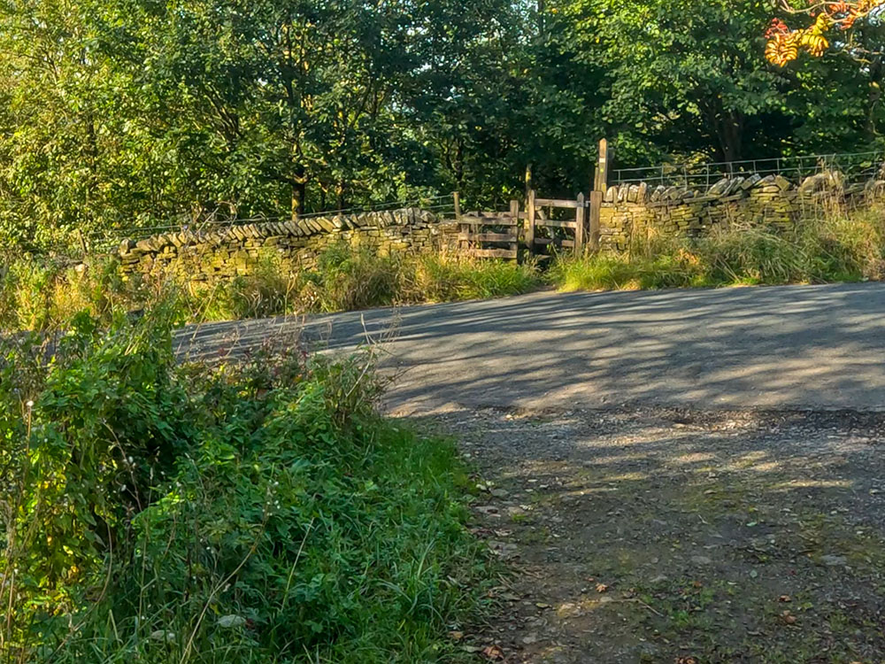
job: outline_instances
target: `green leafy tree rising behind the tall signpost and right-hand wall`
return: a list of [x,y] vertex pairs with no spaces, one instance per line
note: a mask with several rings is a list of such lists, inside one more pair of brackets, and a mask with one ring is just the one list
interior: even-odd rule
[[559,5],[582,58],[606,73],[606,124],[637,160],[656,153],[735,160],[776,150],[767,127],[779,115],[784,78],[758,61],[767,12],[761,0]]

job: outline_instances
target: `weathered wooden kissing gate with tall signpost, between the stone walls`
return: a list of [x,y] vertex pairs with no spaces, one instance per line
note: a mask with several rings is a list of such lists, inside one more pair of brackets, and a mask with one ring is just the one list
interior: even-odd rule
[[[458,249],[484,259],[519,260],[520,246],[531,259],[550,257],[552,251],[571,250],[576,254],[599,248],[599,209],[608,184],[608,166],[612,151],[603,139],[599,143],[599,161],[589,198],[578,194],[574,199],[540,198],[529,189],[526,209],[512,200],[507,212],[462,212],[455,193],[455,218],[458,222]],[[565,214],[554,211],[566,210]],[[573,212],[570,212],[573,211]],[[572,216],[573,214],[573,216]],[[559,216],[559,219],[554,219]]]

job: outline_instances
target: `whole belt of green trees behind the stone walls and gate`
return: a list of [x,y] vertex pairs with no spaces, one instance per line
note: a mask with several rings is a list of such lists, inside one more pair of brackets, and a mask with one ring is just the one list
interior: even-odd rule
[[771,13],[762,0],[2,3],[0,243],[454,189],[492,204],[529,164],[547,195],[573,194],[603,136],[620,166],[870,147],[881,56],[769,65]]

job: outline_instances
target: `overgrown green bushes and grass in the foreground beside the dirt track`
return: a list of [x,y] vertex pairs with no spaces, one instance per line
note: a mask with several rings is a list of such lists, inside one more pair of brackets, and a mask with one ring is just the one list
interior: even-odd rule
[[481,588],[453,447],[366,357],[178,366],[162,311],[4,344],[0,660],[443,657]]

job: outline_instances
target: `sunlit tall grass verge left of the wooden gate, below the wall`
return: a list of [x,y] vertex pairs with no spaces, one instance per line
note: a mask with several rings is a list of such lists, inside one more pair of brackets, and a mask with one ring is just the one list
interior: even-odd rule
[[347,245],[322,253],[314,270],[292,272],[268,258],[250,274],[214,283],[124,277],[112,259],[79,266],[8,259],[0,267],[0,328],[54,328],[82,310],[111,320],[169,300],[181,320],[237,320],[499,297],[540,283],[535,265],[450,253],[380,257]]

